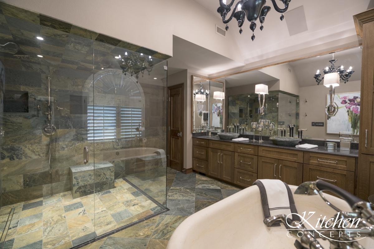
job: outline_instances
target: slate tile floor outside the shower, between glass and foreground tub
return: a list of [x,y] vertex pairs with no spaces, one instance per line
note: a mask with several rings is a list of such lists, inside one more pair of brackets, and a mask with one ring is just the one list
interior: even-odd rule
[[240,189],[212,178],[168,168],[167,207],[170,211],[98,240],[83,249],[165,249],[175,228],[189,215]]

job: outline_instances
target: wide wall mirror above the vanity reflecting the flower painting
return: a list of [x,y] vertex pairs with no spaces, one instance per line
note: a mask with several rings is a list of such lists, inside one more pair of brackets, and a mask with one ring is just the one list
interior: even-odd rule
[[[258,134],[252,122],[269,120],[274,124],[272,135],[280,136],[278,128],[283,128],[289,136],[291,125],[296,137],[303,129],[303,138],[334,140],[340,132],[352,132],[358,139],[361,54],[361,47],[353,47],[215,79],[226,87],[225,131],[233,131],[239,124],[243,127],[240,132]],[[338,84],[331,87],[330,95],[330,79],[324,76],[333,71]],[[261,84],[266,86],[266,94],[256,89]],[[264,124],[263,135],[270,136],[268,128]]]

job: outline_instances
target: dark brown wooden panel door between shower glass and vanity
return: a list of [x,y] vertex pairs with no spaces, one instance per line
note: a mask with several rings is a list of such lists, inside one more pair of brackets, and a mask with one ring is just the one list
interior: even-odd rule
[[183,170],[184,84],[168,87],[169,92],[169,167]]

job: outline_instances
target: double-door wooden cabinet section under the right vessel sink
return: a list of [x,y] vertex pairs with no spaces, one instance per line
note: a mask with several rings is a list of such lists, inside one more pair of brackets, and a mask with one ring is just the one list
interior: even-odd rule
[[258,179],[278,179],[298,186],[303,183],[303,164],[259,156]]

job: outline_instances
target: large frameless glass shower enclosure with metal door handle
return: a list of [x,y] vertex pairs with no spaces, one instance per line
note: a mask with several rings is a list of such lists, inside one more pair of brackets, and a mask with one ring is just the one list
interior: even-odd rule
[[165,211],[164,55],[0,9],[0,246],[71,248]]

